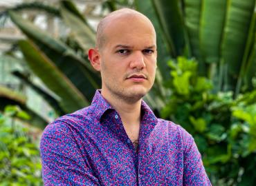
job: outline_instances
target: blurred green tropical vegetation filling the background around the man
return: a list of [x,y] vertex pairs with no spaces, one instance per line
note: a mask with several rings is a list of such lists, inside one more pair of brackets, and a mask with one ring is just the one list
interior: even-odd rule
[[42,185],[42,130],[90,104],[100,74],[86,51],[98,21],[124,7],[147,15],[156,28],[156,83],[145,97],[155,114],[194,136],[212,185],[256,184],[255,0],[6,2],[0,185]]

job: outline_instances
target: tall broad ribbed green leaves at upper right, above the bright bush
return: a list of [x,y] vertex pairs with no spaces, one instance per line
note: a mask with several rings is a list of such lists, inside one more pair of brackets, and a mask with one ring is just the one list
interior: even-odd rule
[[[134,1],[135,4],[141,3]],[[165,50],[162,53],[171,58],[196,58],[199,74],[214,81],[215,91],[236,90],[234,96],[237,96],[240,92],[253,90],[255,0],[151,2],[154,11],[145,12],[144,6],[136,8],[149,17],[157,16],[152,22],[156,25],[157,34],[161,33],[158,38],[163,38],[161,45],[167,45],[167,48],[160,48]]]

